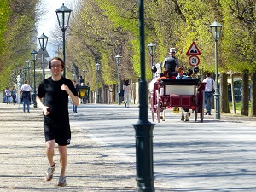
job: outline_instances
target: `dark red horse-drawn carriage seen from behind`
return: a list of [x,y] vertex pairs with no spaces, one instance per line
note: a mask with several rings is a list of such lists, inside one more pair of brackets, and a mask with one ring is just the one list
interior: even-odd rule
[[[189,113],[189,109],[194,112],[195,121],[200,113],[201,122],[204,119],[204,90],[205,83],[199,79],[160,79],[154,82],[151,90],[151,111],[152,120],[156,113],[158,123],[160,119],[165,119],[164,110],[182,108]],[[160,116],[160,113],[163,113]]]

